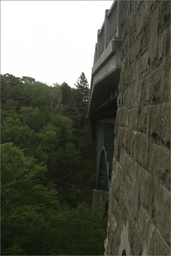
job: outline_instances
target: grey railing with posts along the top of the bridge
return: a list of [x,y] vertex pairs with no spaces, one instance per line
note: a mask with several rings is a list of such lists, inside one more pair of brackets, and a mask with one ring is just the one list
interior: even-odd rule
[[[94,64],[107,48],[112,39],[122,39],[122,26],[120,24],[123,1],[115,0],[110,10],[105,11],[105,19],[97,34],[97,44],[95,46]],[[93,64],[93,65],[94,65]]]

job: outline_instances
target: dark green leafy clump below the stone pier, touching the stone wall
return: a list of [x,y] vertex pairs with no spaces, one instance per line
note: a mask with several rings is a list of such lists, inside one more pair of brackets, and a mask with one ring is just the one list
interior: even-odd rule
[[98,208],[87,208],[81,203],[76,209],[65,208],[60,219],[63,227],[57,242],[57,246],[63,248],[60,255],[104,254],[107,220]]

